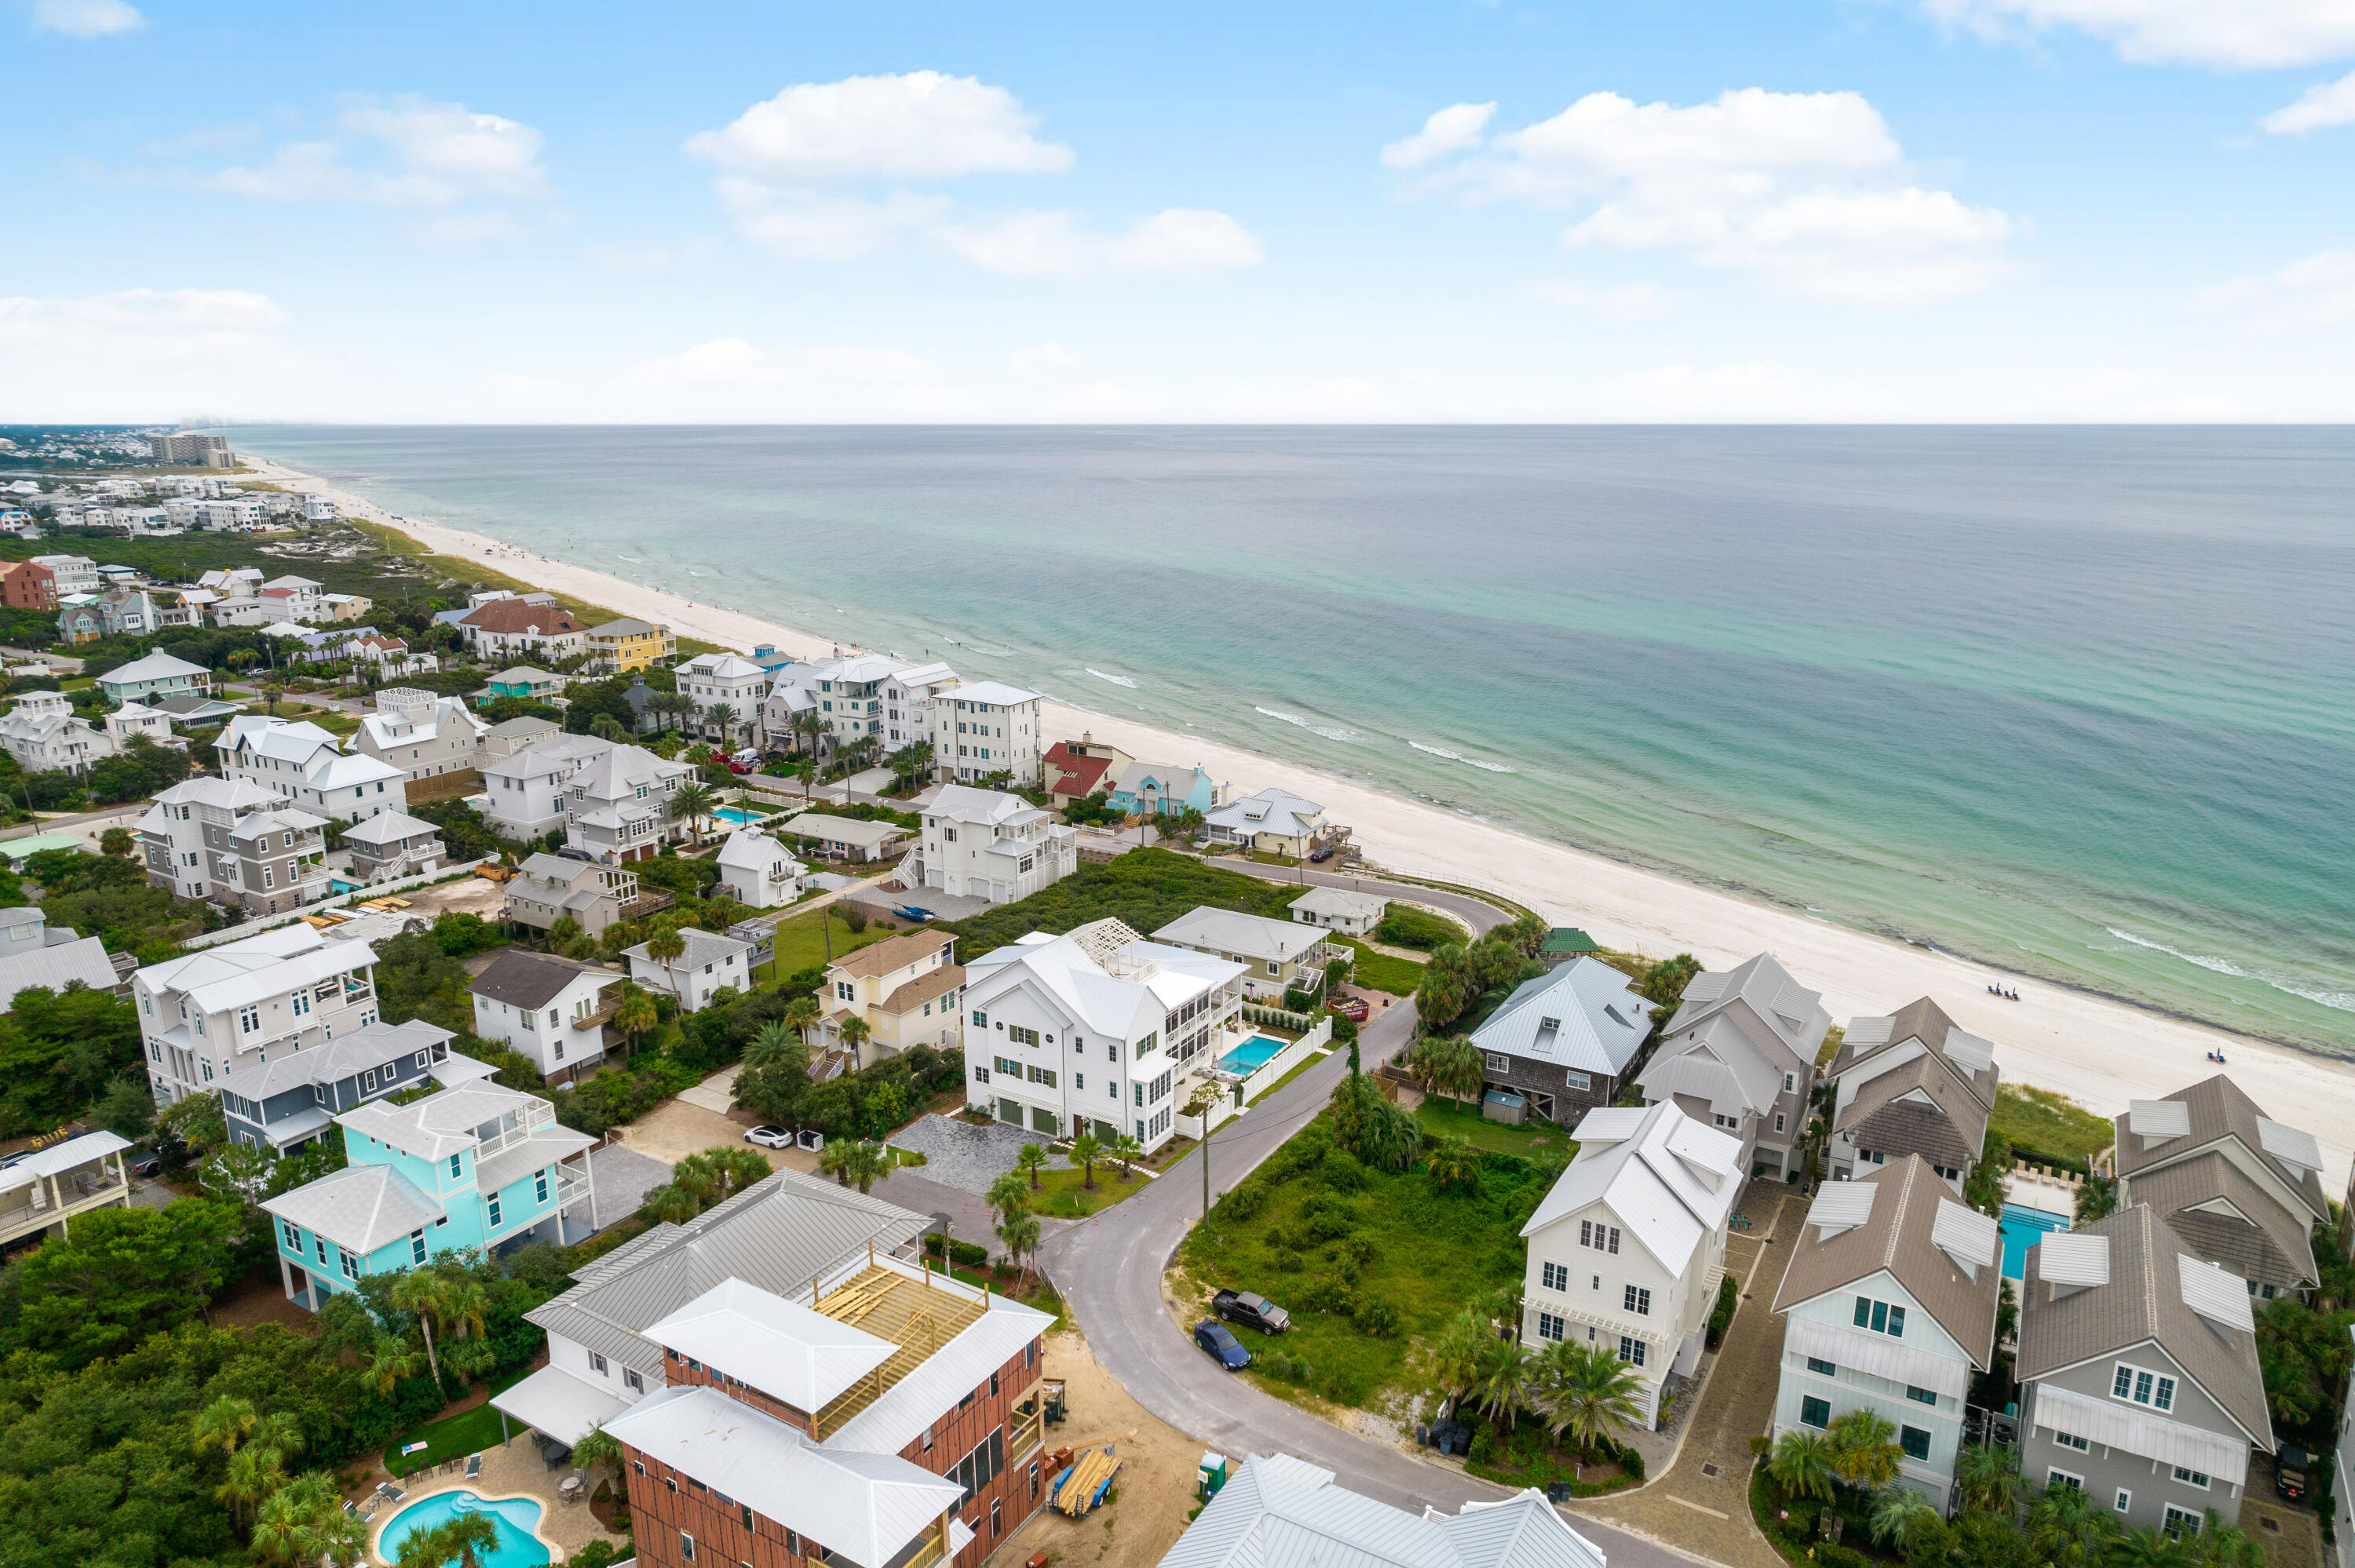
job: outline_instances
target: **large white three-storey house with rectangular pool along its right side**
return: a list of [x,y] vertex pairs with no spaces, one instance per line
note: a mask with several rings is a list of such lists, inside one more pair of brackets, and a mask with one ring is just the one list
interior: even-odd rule
[[1170,1140],[1178,1078],[1241,1041],[1243,965],[1121,921],[1031,932],[966,965],[966,1104],[1046,1137]]

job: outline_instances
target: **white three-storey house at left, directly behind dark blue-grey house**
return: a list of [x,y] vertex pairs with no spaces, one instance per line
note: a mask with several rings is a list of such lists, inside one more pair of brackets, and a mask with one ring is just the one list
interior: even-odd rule
[[155,1104],[377,1022],[377,954],[294,923],[132,977]]

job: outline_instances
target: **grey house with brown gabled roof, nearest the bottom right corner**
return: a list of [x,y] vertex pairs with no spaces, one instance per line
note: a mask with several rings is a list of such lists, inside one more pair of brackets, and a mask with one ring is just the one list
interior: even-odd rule
[[2237,1523],[2249,1455],[2275,1448],[2249,1290],[2148,1203],[2028,1250],[2016,1375],[2021,1479],[2129,1530]]

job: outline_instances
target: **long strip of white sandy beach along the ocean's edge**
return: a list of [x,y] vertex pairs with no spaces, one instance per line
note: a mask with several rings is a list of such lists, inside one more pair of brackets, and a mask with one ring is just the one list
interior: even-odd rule
[[[756,643],[770,643],[796,657],[824,657],[836,647],[827,638],[532,556],[497,539],[417,518],[393,520],[325,480],[261,459],[247,461],[271,483],[327,494],[346,516],[398,527],[431,551],[469,556],[553,593],[664,622],[706,643],[747,652]],[[2275,1118],[2301,1125],[2322,1142],[2329,1165],[2324,1189],[2346,1189],[2355,1147],[2355,1067],[1754,904],[1199,737],[1062,704],[1046,704],[1046,730],[1048,739],[1090,732],[1130,756],[1203,763],[1215,777],[1232,779],[1236,793],[1279,784],[1321,800],[1328,817],[1352,826],[1368,859],[1385,869],[1493,888],[1554,923],[1583,925],[1606,946],[1658,956],[1689,951],[1710,968],[1771,951],[1792,975],[1823,991],[1825,1008],[1842,1024],[1933,996],[1964,1029],[1995,1041],[2006,1081],[2061,1090],[2103,1116],[2124,1111],[2127,1099],[2167,1095],[2230,1071]],[[1990,996],[1988,986],[1995,982],[2018,989],[2021,1001]],[[2228,1057],[2225,1069],[2207,1059],[2211,1050]]]

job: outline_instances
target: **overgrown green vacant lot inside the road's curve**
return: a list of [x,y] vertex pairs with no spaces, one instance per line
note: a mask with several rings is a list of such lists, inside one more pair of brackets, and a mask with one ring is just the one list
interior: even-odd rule
[[1484,1168],[1477,1191],[1434,1187],[1420,1168],[1366,1170],[1319,1116],[1194,1227],[1180,1297],[1258,1290],[1291,1309],[1291,1333],[1243,1337],[1253,1373],[1366,1406],[1415,1387],[1418,1340],[1521,1281],[1519,1231],[1543,1191],[1507,1168]]

